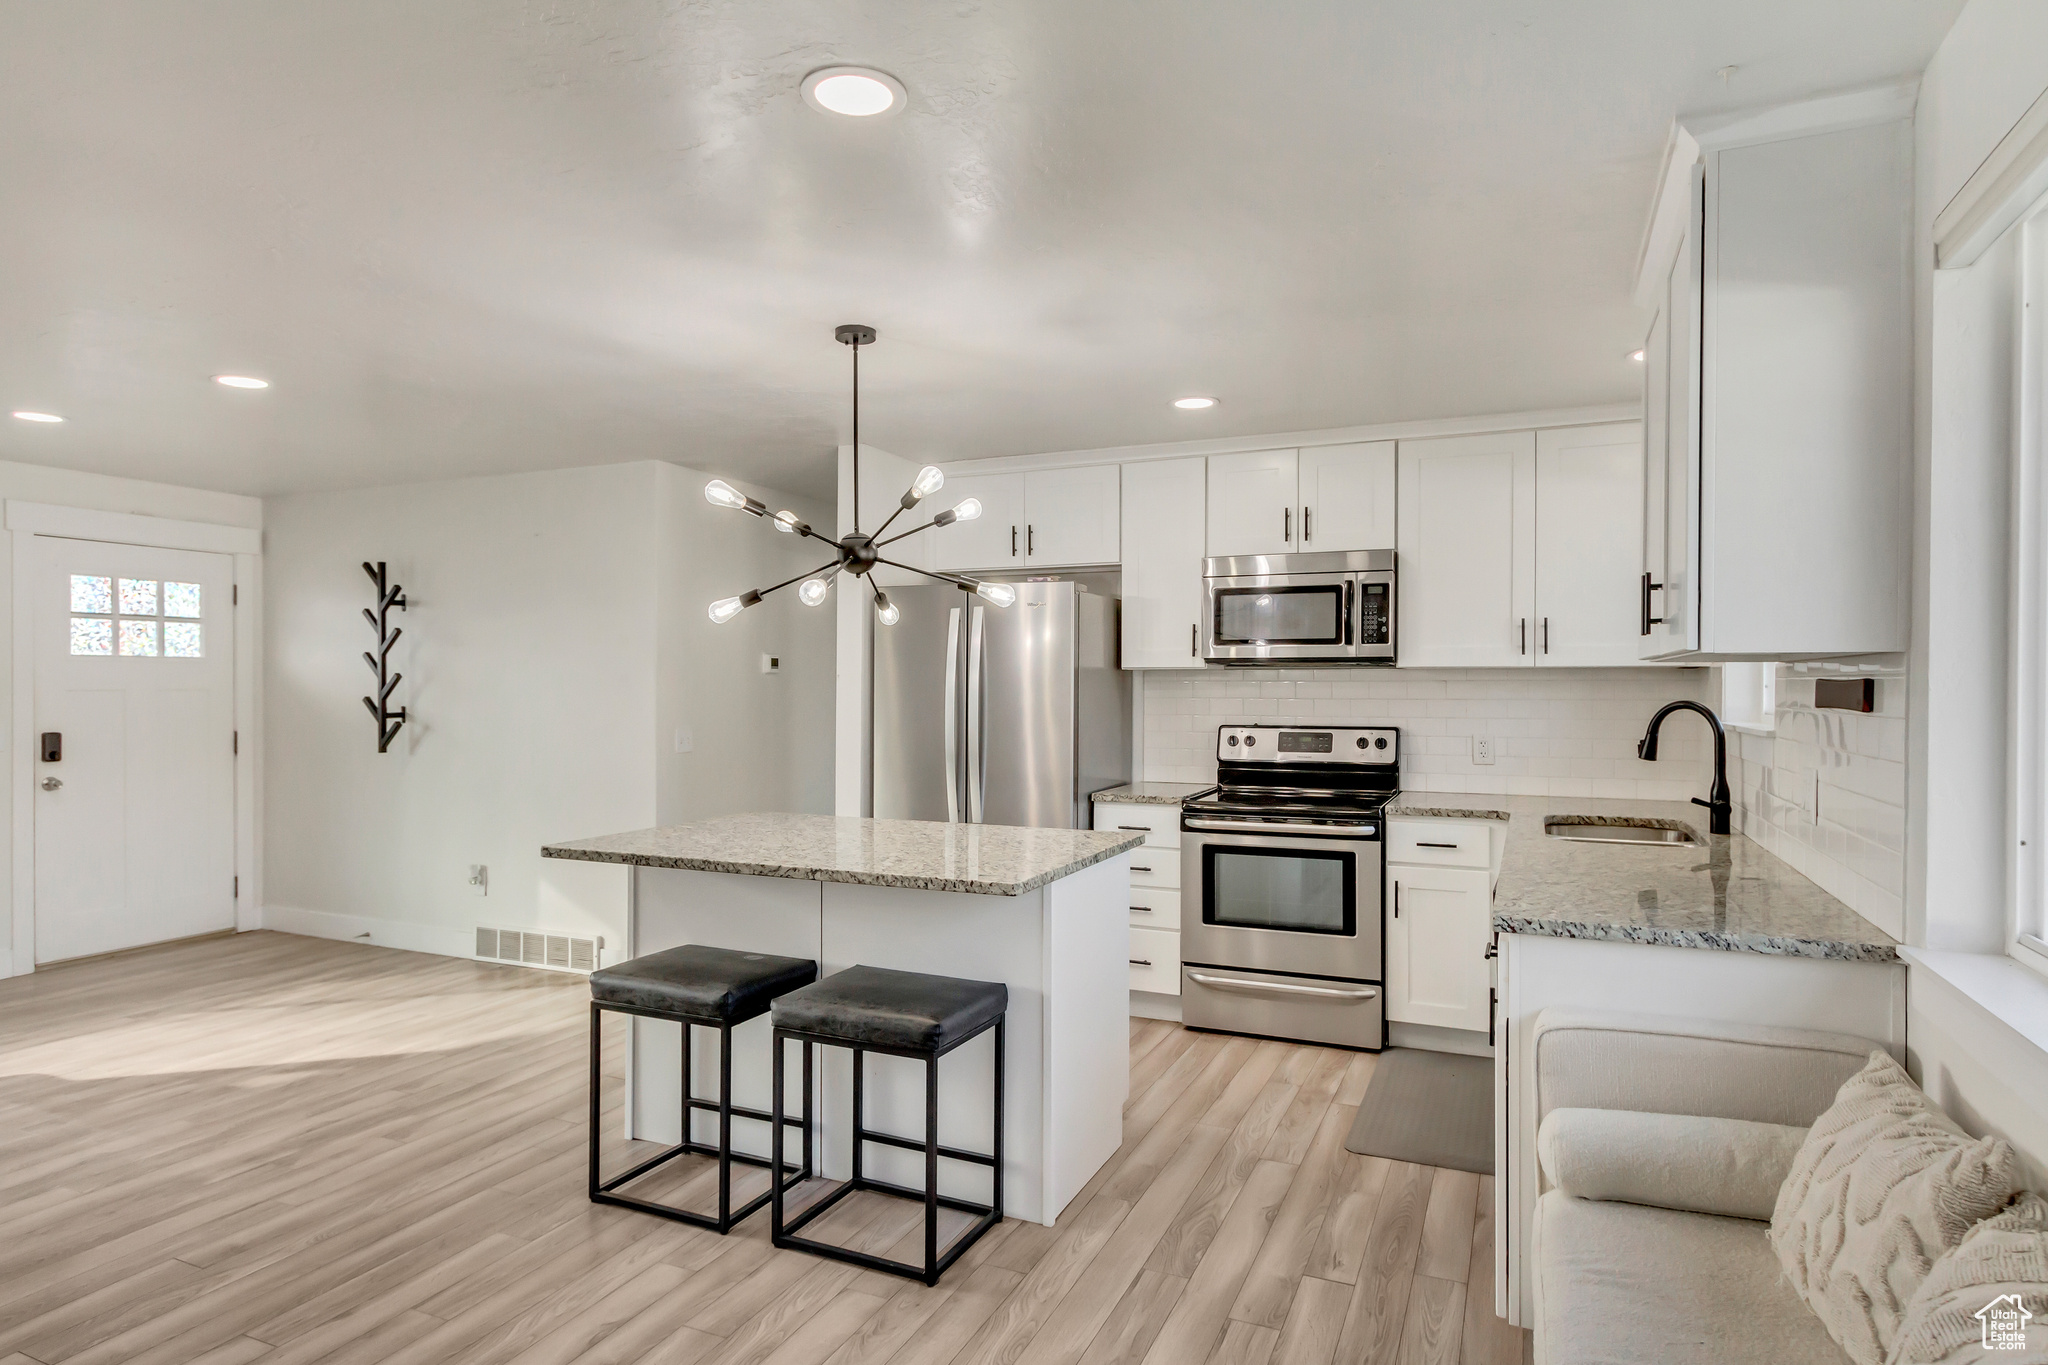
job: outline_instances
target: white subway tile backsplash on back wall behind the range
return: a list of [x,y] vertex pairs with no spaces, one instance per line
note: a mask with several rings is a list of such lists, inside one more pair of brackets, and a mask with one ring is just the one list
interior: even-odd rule
[[[1671,716],[1659,759],[1636,741],[1665,702],[1710,696],[1708,669],[1202,669],[1143,673],[1145,780],[1214,782],[1219,724],[1399,724],[1411,792],[1688,800],[1714,776],[1712,733]],[[1495,739],[1491,765],[1473,737]]]

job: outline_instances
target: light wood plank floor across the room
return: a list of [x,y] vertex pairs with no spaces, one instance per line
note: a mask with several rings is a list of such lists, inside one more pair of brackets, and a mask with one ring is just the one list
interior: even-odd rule
[[590,1205],[586,1011],[578,976],[279,933],[0,982],[0,1365],[1524,1361],[1491,1183],[1343,1150],[1370,1056],[1135,1019],[1124,1146],[926,1289],[766,1214]]

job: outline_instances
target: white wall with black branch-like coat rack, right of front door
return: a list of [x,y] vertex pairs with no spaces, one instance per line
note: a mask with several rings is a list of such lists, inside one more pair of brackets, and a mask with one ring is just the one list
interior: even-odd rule
[[[616,960],[625,872],[541,860],[545,841],[821,808],[829,745],[797,743],[793,716],[829,694],[829,624],[778,593],[711,626],[711,600],[797,555],[756,518],[711,516],[702,483],[637,463],[266,505],[266,925],[465,956],[479,923],[549,929],[604,935]],[[410,720],[385,755],[358,700],[365,559],[410,600],[391,653]],[[791,671],[762,675],[764,647]],[[750,731],[774,737],[766,757]],[[469,864],[489,866],[483,898]]]

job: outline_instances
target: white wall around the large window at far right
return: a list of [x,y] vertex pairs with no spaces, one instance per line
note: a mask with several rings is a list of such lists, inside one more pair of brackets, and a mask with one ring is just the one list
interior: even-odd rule
[[[2048,88],[2048,6],[1970,0],[1921,80],[1917,133],[1915,602],[1907,702],[1907,939],[2005,941],[2011,244],[1933,270],[1933,215]],[[1980,960],[1997,972],[2003,964]],[[2023,968],[2011,968],[2021,972]],[[2048,1052],[1913,968],[1911,1062],[1972,1132],[2048,1171]]]

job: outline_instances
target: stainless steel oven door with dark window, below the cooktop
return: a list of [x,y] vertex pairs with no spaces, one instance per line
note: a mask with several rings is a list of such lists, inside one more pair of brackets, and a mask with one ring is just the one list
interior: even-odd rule
[[1182,962],[1382,980],[1384,845],[1309,825],[1182,823]]

